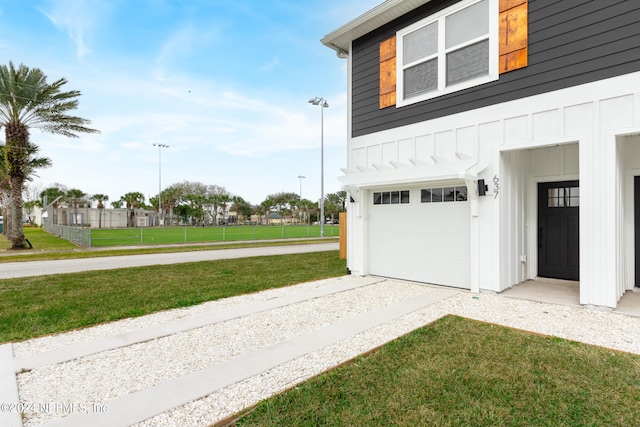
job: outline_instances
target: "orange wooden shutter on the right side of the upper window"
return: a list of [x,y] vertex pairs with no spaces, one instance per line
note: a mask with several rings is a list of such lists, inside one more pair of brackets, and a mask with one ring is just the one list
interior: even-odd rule
[[527,66],[527,0],[500,0],[500,74]]

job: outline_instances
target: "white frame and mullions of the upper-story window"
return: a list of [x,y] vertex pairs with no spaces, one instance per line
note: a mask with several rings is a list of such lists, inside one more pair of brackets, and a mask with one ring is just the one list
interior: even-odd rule
[[[446,74],[447,74],[447,61],[446,54],[448,53],[445,47],[445,19],[447,16],[456,13],[462,9],[465,9],[475,3],[479,3],[481,0],[463,0],[454,6],[444,9],[437,14],[431,15],[425,19],[422,19],[396,33],[396,86],[397,86],[397,100],[396,108],[404,107],[407,105],[422,102],[428,99],[437,98],[442,95],[457,92],[470,87],[479,86],[488,82],[498,80],[498,0],[489,0],[489,73],[485,76],[480,76],[475,79],[460,82],[451,86],[446,86]],[[410,68],[416,64],[424,62],[426,59],[422,58],[418,61],[403,65],[404,54],[404,36],[412,33],[422,27],[425,27],[435,21],[438,21],[438,88],[434,91],[423,93],[420,95],[412,96],[410,98],[404,98],[404,70]],[[458,45],[454,50],[458,50],[461,46],[472,45],[480,40],[486,38],[474,39],[465,43],[464,45]],[[434,56],[428,57],[433,58]]]

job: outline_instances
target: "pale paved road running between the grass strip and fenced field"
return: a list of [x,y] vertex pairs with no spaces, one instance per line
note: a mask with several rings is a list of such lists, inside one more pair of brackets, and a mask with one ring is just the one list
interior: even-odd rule
[[124,255],[52,261],[10,262],[0,264],[0,280],[18,277],[44,276],[48,274],[77,273],[80,271],[91,270],[114,270],[117,268],[142,267],[148,265],[168,265],[187,262],[215,261],[220,259],[334,251],[338,250],[338,246],[338,243],[331,242],[314,243],[310,245],[263,246],[257,248],[220,249],[211,251]]

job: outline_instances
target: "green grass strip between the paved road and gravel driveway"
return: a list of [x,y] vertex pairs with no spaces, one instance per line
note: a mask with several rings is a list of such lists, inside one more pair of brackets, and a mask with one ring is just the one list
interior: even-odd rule
[[337,251],[8,279],[0,343],[341,276]]

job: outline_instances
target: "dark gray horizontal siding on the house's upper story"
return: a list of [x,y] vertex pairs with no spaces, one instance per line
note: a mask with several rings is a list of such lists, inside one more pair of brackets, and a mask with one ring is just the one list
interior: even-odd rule
[[498,81],[379,109],[381,41],[458,0],[435,0],[353,42],[353,136],[640,71],[640,0],[529,0],[529,65]]

